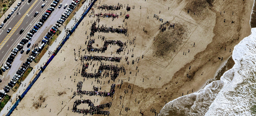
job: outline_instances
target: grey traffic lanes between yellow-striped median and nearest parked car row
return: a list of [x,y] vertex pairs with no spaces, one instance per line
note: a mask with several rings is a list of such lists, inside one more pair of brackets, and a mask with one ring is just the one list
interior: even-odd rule
[[[50,4],[47,5],[47,6],[45,6],[45,8],[44,8],[43,10],[46,10],[49,6],[50,6]],[[38,6],[38,8],[41,9],[41,5]],[[41,13],[39,13],[38,15],[43,15],[43,14],[44,14],[44,12],[41,12]],[[32,16],[31,18],[30,18],[30,16],[29,16],[29,17],[26,16],[26,18],[28,18],[28,21],[27,21],[27,22],[30,22],[30,24],[27,24],[27,23],[25,23],[25,22],[22,22],[21,25],[20,25],[20,27],[17,28],[17,30],[14,32],[14,35],[12,35],[12,37],[11,37],[11,38],[8,40],[8,42],[3,46],[3,48],[8,47],[8,46],[9,46],[9,47],[8,47],[9,49],[14,48],[14,47],[21,41],[21,39],[23,39],[24,37],[27,36],[27,32],[29,32],[30,30],[32,30],[33,27],[34,27],[34,25],[37,24],[37,23],[39,22],[39,20],[41,19],[40,16],[37,16],[37,17],[34,18],[34,14],[33,14],[33,16]],[[24,18],[24,20],[26,20],[26,18]],[[23,27],[26,27],[26,28],[23,28]],[[24,29],[24,32],[20,35],[19,32],[20,32],[21,28]],[[15,35],[15,33],[17,33],[17,34]],[[32,37],[32,38],[34,38],[34,37]],[[13,43],[13,40],[15,41],[14,43]],[[17,41],[17,40],[18,40],[18,41]],[[13,43],[13,44],[12,44],[12,43]],[[11,46],[11,47],[10,47],[10,46]],[[0,52],[0,59],[2,59],[0,63],[4,62],[3,59],[4,59],[5,57],[8,57],[8,56],[6,56],[6,55],[7,55],[7,54],[10,54],[9,52],[11,52],[11,51],[9,51],[9,50],[5,50],[5,51],[6,51],[6,52],[2,52],[2,53]],[[5,55],[4,55],[4,54],[5,54]],[[5,58],[5,59],[6,59],[6,58]]]

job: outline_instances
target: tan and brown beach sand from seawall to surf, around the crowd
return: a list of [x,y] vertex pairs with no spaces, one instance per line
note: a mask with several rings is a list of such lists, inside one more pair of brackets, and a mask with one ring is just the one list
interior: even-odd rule
[[[120,62],[107,61],[106,63],[123,65],[126,74],[120,73],[116,81],[110,80],[109,84],[107,84],[109,77],[100,79],[102,84],[97,84],[94,79],[85,79],[82,87],[82,90],[92,91],[94,85],[101,86],[100,91],[110,91],[111,84],[116,84],[113,98],[82,96],[82,99],[91,101],[98,99],[94,105],[112,102],[110,109],[104,109],[110,111],[110,116],[119,114],[141,116],[140,110],[145,116],[154,116],[155,114],[150,112],[151,108],[156,109],[156,112],[159,113],[166,102],[168,103],[182,94],[187,95],[187,92],[190,94],[192,90],[193,92],[198,91],[207,80],[216,76],[221,64],[232,55],[233,47],[250,34],[249,20],[253,0],[98,0],[96,5],[117,6],[118,3],[125,7],[129,4],[131,10],[127,11],[123,8],[101,11],[94,8],[95,14],[102,12],[120,15],[122,12],[123,15],[115,18],[114,21],[112,18],[101,17],[99,25],[106,24],[107,27],[113,26],[113,28],[127,27],[129,35],[97,32],[94,37],[91,37],[91,39],[95,39],[93,46],[103,46],[104,42],[98,39],[98,36],[122,42],[132,41],[136,37],[134,41],[136,45],[127,43],[126,50],[120,55],[116,54],[116,49],[119,48],[117,46],[108,46],[107,51],[103,54],[96,52],[88,54],[87,51],[86,55],[122,57]],[[132,9],[133,6],[135,9]],[[190,10],[189,14],[187,14],[187,9]],[[222,13],[220,14],[220,12]],[[125,22],[123,22],[124,13],[130,15]],[[163,22],[154,18],[154,14],[162,18]],[[82,114],[73,113],[71,110],[74,101],[81,99],[79,95],[72,98],[76,84],[84,79],[79,73],[79,70],[82,70],[81,61],[74,59],[78,59],[79,55],[85,55],[85,51],[82,49],[87,48],[85,41],[88,43],[90,39],[90,37],[87,39],[90,34],[90,21],[96,21],[96,17],[87,15],[84,18],[75,33],[62,47],[62,52],[59,52],[44,70],[17,106],[17,110],[14,110],[12,116],[21,114],[27,116],[82,116]],[[160,32],[159,26],[166,21],[175,23],[175,28]],[[127,25],[125,25],[126,23]],[[76,55],[74,55],[73,49],[76,49]],[[127,54],[128,50],[129,54]],[[190,52],[188,53],[188,51]],[[132,54],[134,54],[133,58],[131,58]],[[126,64],[125,57],[128,57],[129,65]],[[219,59],[222,57],[223,60]],[[137,63],[138,59],[140,59],[139,63]],[[132,60],[136,60],[133,65]],[[97,61],[92,63],[97,64]],[[94,66],[92,71],[91,67],[92,65],[89,65],[88,73],[94,73],[99,65]],[[78,73],[77,76],[76,73]],[[189,76],[187,77],[187,75]],[[161,79],[159,79],[160,77]],[[117,84],[120,84],[121,80],[123,80],[122,88],[117,89]],[[105,84],[103,84],[104,81]],[[92,82],[93,85],[91,85]],[[131,89],[128,89],[128,86],[131,86]],[[127,89],[128,93],[125,94],[124,91]],[[122,100],[120,96],[122,96]],[[38,104],[41,107],[38,107]],[[67,110],[68,107],[69,110]],[[125,107],[130,110],[126,112]],[[78,108],[87,109],[88,105],[81,104]]]

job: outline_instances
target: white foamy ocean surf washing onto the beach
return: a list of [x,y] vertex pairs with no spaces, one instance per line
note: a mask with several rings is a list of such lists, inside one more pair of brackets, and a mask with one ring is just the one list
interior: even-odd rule
[[158,116],[256,115],[256,28],[234,47],[235,65],[193,94],[166,104]]

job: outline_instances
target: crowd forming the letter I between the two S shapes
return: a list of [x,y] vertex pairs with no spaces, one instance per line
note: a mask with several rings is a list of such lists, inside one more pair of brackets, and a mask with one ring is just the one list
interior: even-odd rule
[[88,56],[88,55],[81,55],[81,59],[85,61],[110,61],[110,62],[120,62],[121,57],[104,57],[104,56]]

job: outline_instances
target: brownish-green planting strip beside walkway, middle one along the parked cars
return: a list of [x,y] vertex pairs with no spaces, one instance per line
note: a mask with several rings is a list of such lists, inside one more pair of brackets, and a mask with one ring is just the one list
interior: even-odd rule
[[56,33],[52,36],[51,39],[49,39],[49,42],[44,46],[44,48],[42,49],[42,51],[37,55],[37,57],[34,59],[35,62],[40,61],[40,59],[43,57],[43,55],[47,52],[47,49],[49,47],[49,45],[51,46],[53,44],[53,42],[58,38],[59,33],[61,33],[61,31],[56,31]]

